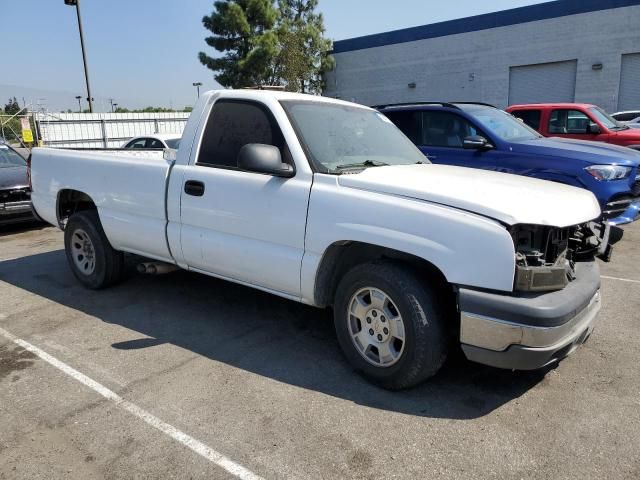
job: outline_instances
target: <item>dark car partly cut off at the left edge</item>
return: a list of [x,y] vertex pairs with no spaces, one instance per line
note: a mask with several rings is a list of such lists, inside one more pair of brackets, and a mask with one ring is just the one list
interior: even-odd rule
[[0,225],[33,219],[27,162],[0,143]]

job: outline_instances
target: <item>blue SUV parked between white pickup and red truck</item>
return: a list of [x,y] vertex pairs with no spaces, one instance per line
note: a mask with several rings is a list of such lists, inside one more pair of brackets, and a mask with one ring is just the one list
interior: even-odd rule
[[615,225],[640,215],[640,152],[544,138],[510,114],[484,104],[379,109],[433,163],[515,173],[587,189],[598,199],[603,219]]

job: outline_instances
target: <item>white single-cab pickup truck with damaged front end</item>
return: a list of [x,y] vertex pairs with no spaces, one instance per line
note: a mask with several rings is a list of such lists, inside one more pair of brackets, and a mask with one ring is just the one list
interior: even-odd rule
[[550,364],[600,309],[608,230],[590,192],[429,164],[361,105],[212,91],[172,159],[37,148],[31,179],[85,286],[120,280],[131,252],[332,307],[348,361],[390,389],[456,343],[496,367]]

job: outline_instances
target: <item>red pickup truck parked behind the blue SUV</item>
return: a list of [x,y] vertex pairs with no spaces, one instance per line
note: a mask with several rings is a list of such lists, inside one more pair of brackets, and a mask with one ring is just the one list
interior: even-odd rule
[[545,137],[613,143],[640,150],[640,129],[629,128],[587,103],[512,105],[507,112]]

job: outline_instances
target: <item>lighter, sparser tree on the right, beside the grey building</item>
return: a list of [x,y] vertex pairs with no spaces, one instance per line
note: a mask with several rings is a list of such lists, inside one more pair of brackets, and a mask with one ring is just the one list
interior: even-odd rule
[[272,83],[287,90],[320,94],[323,74],[333,68],[331,40],[324,38],[324,19],[318,0],[279,0],[278,54]]

